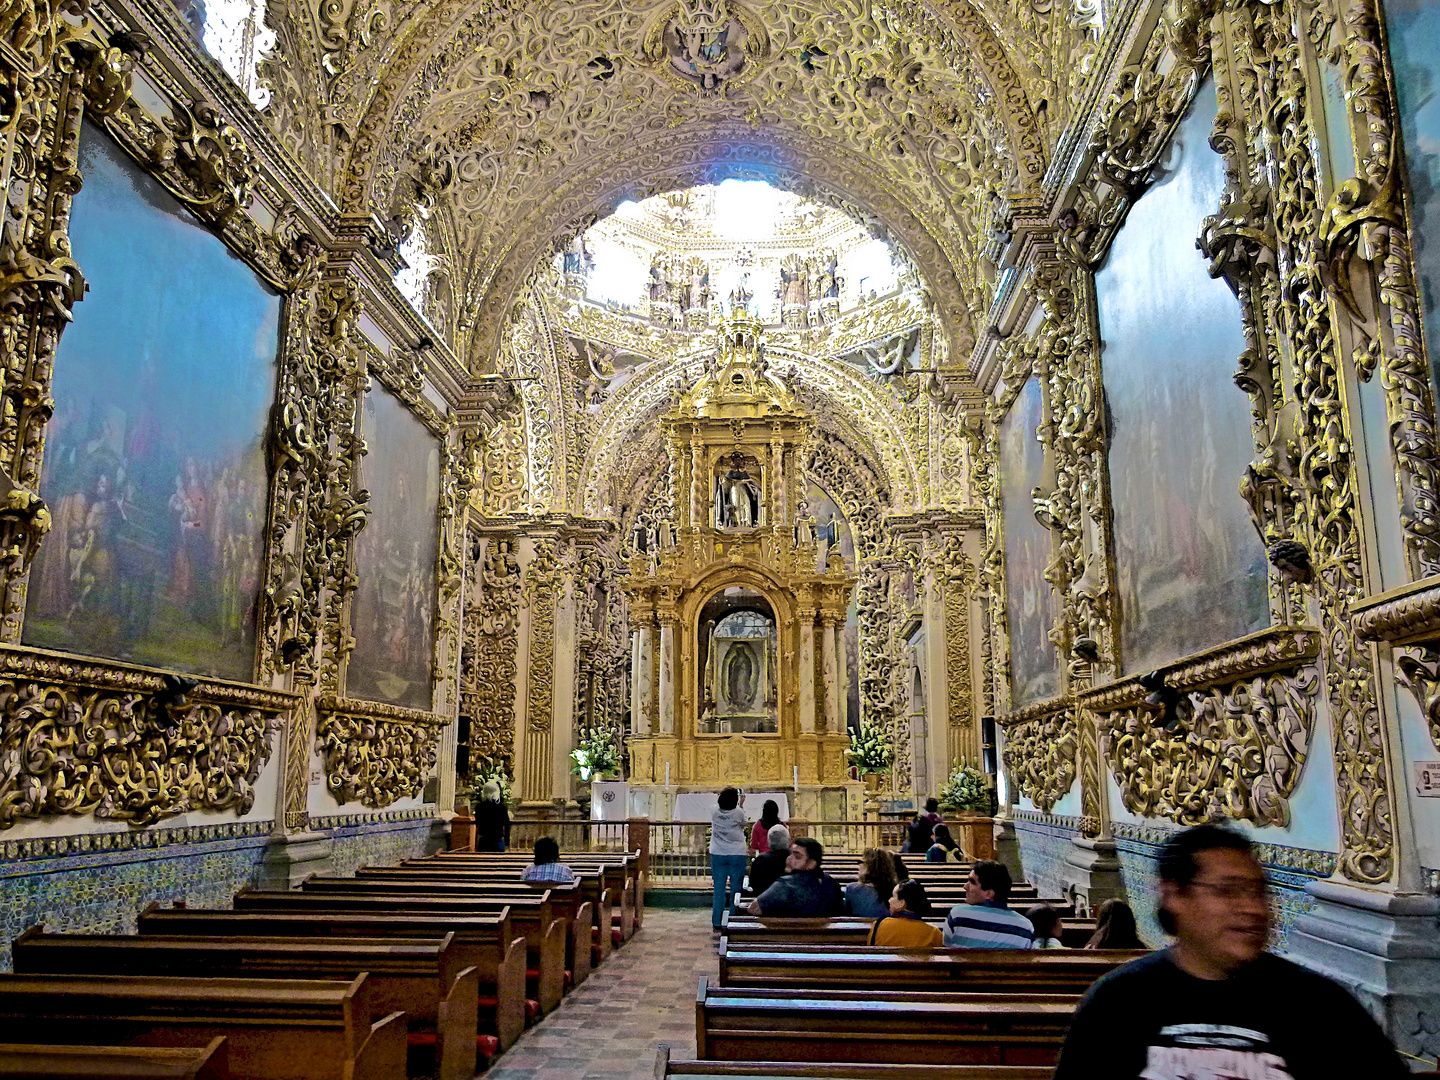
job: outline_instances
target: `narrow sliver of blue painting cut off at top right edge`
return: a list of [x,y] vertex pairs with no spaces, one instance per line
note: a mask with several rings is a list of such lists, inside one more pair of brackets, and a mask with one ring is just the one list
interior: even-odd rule
[[1431,372],[1440,370],[1440,3],[1385,0]]

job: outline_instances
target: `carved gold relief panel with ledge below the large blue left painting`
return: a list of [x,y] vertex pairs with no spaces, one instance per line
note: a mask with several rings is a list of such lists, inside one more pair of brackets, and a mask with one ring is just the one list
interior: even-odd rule
[[0,829],[95,814],[151,825],[246,814],[292,694],[0,649]]

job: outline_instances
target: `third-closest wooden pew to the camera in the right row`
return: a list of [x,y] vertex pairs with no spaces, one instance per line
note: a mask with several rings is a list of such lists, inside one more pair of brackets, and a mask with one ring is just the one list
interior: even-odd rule
[[721,940],[721,986],[1084,994],[1143,952],[1079,949],[886,949],[733,945]]

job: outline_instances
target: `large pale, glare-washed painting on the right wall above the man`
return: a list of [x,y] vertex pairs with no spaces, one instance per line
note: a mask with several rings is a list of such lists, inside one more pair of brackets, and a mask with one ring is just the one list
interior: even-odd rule
[[1126,671],[1269,625],[1266,556],[1240,498],[1250,403],[1233,373],[1240,305],[1195,251],[1225,177],[1207,82],[1094,285]]

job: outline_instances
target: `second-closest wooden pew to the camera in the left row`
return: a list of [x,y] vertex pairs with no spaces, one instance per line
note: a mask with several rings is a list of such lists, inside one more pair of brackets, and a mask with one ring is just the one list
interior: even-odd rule
[[403,1080],[405,1014],[376,1020],[366,976],[179,979],[0,976],[0,1041],[204,1045],[233,1080]]

